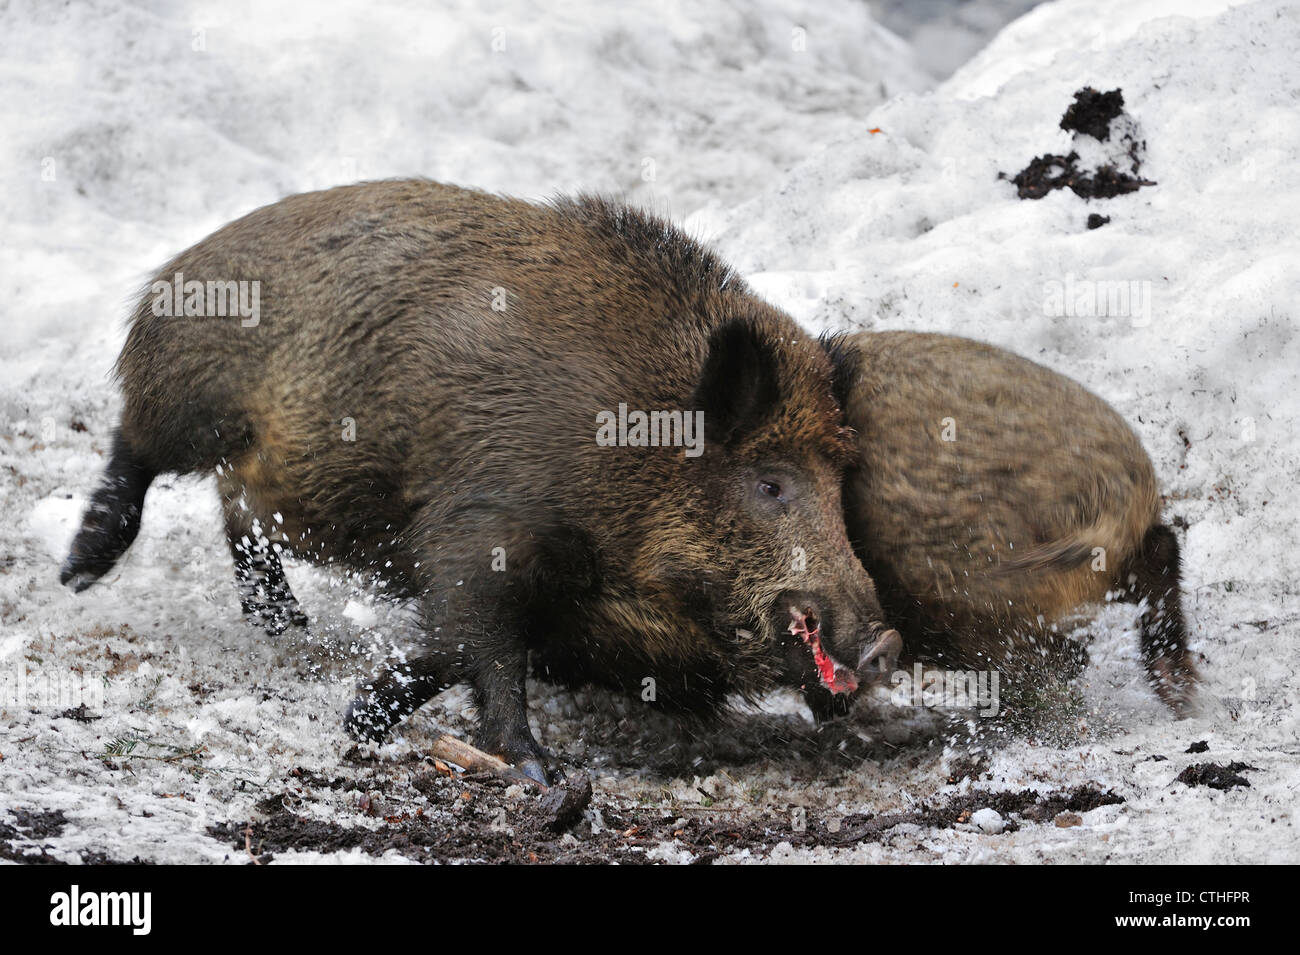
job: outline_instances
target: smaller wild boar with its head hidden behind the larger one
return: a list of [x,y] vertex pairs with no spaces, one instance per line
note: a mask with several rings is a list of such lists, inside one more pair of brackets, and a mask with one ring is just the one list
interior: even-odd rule
[[1112,592],[1144,602],[1150,682],[1183,712],[1196,668],[1178,541],[1123,418],[1069,378],[963,338],[863,333],[837,357],[861,434],[849,537],[907,655],[1013,680],[1078,665],[1052,625]]

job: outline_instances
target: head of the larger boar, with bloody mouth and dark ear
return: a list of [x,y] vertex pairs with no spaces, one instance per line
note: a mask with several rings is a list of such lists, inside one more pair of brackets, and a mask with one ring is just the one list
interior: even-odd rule
[[733,316],[712,331],[694,390],[703,513],[684,586],[705,602],[716,638],[734,642],[742,693],[784,682],[849,694],[892,672],[901,650],[845,530],[854,434],[833,394],[832,353],[775,309]]

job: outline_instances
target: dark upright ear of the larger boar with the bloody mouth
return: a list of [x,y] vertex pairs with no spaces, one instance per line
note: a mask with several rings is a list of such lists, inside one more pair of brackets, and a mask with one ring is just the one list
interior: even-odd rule
[[705,412],[705,435],[731,444],[758,427],[781,399],[772,343],[753,322],[733,318],[708,340],[708,357],[696,385],[693,407]]

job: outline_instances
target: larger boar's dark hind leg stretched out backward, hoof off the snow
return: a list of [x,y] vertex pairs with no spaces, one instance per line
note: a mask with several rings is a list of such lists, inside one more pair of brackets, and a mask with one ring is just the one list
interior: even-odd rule
[[81,592],[113,568],[140,530],[144,492],[156,476],[116,433],[108,468],[58,574],[61,583]]

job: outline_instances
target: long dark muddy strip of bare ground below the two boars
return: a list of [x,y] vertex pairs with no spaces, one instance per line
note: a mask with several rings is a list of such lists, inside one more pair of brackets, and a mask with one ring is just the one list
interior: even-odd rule
[[[376,781],[372,783],[378,785]],[[1080,813],[1123,803],[1092,786],[1052,793],[970,791],[906,812],[837,816],[800,807],[760,804],[638,804],[627,795],[592,795],[585,777],[569,777],[546,794],[523,791],[499,780],[447,776],[419,768],[404,783],[426,802],[402,802],[400,786],[355,803],[355,824],[312,815],[311,800],[296,796],[266,803],[260,819],[208,826],[231,850],[231,859],[273,863],[287,851],[393,852],[419,863],[592,863],[706,864],[749,850],[766,856],[777,846],[846,848],[883,842],[898,826],[930,830],[963,828],[979,809],[1005,820],[1002,832],[1022,824],[1049,824],[1061,813]],[[360,789],[365,789],[361,786]],[[590,803],[588,803],[590,800]],[[389,815],[385,815],[389,813]]]

